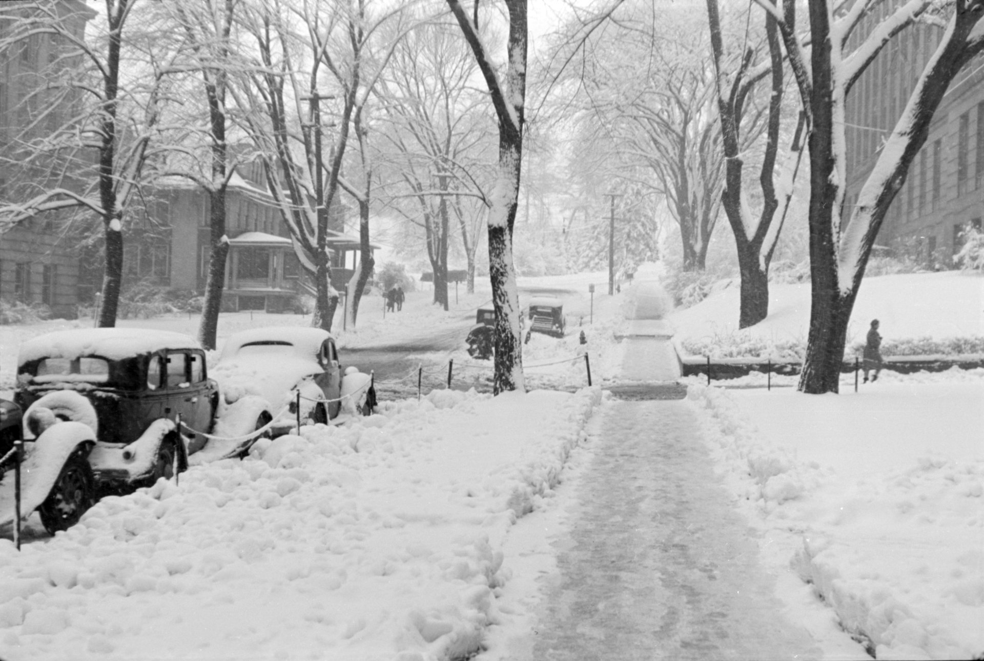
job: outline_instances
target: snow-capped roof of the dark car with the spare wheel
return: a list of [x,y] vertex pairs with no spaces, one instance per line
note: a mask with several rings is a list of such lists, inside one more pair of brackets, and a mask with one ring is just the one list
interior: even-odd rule
[[81,356],[101,356],[119,361],[151,354],[161,349],[201,349],[195,338],[183,333],[150,328],[73,328],[55,331],[21,345],[18,365],[42,358],[69,360]]

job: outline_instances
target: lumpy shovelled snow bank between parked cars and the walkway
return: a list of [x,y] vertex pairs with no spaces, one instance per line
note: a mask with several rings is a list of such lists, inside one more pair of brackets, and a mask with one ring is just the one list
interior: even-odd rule
[[20,554],[0,540],[0,656],[463,658],[498,617],[507,530],[599,401],[383,403],[103,498]]

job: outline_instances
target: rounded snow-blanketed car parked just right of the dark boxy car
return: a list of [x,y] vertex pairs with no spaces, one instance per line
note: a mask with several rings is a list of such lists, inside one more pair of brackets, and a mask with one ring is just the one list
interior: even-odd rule
[[371,376],[343,368],[335,338],[320,328],[268,326],[235,333],[214,372],[227,406],[248,395],[270,403],[274,435],[296,426],[298,399],[300,418],[322,424],[345,413],[369,415],[376,406]]

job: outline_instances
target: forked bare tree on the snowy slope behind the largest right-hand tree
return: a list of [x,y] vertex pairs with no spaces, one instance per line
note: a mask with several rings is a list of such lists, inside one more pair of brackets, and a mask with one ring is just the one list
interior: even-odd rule
[[[725,59],[717,0],[707,0],[707,17],[724,148],[725,173],[721,200],[738,250],[738,268],[741,273],[738,327],[747,328],[769,315],[769,263],[792,197],[793,178],[802,151],[797,144],[797,135],[784,163],[776,165],[783,109],[784,64],[775,17],[766,14],[769,59],[763,62],[756,62],[756,46],[760,45],[756,43],[746,43],[744,52]],[[733,71],[725,69],[729,64],[734,67]],[[761,209],[756,218],[750,196],[743,187],[743,177],[752,143],[762,134],[758,121],[761,112],[757,112],[751,97],[757,94],[756,87],[767,76],[771,83],[769,111],[759,171],[759,190],[756,191],[761,193],[761,196],[756,196],[761,199]]]

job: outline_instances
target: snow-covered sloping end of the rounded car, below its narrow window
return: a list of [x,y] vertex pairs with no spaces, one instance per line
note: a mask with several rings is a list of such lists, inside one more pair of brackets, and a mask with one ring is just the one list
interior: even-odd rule
[[293,356],[245,356],[220,361],[211,376],[218,382],[226,404],[243,395],[259,395],[277,415],[289,403],[290,391],[299,381],[322,372],[314,361]]

